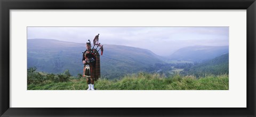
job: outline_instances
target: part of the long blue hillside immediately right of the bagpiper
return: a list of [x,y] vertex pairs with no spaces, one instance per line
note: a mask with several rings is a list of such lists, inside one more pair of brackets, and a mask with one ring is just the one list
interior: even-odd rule
[[146,49],[107,44],[103,47],[101,74],[105,76],[117,77],[138,73],[151,65],[163,62],[155,53]]

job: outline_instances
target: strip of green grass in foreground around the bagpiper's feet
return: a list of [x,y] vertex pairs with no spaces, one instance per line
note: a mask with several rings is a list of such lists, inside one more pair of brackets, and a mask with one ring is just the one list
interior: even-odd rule
[[[94,85],[97,90],[228,90],[228,75],[209,75],[202,78],[176,74],[165,78],[160,74],[139,73],[126,75],[121,80],[99,79]],[[85,90],[86,79],[70,79],[68,82],[30,84],[28,90]]]

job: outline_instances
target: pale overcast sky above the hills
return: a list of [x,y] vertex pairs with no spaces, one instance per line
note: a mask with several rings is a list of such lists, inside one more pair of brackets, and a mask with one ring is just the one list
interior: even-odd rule
[[27,39],[86,43],[98,33],[103,45],[144,48],[160,56],[188,46],[229,45],[228,27],[28,27]]

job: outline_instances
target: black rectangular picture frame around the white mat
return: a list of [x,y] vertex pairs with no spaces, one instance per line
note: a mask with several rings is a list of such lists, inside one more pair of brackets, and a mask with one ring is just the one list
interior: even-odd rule
[[[255,0],[0,0],[1,116],[255,116]],[[10,10],[185,9],[246,10],[246,108],[12,108],[10,107]],[[188,19],[189,20],[189,19]],[[239,22],[238,22],[239,23]],[[156,100],[161,100],[159,97]]]

